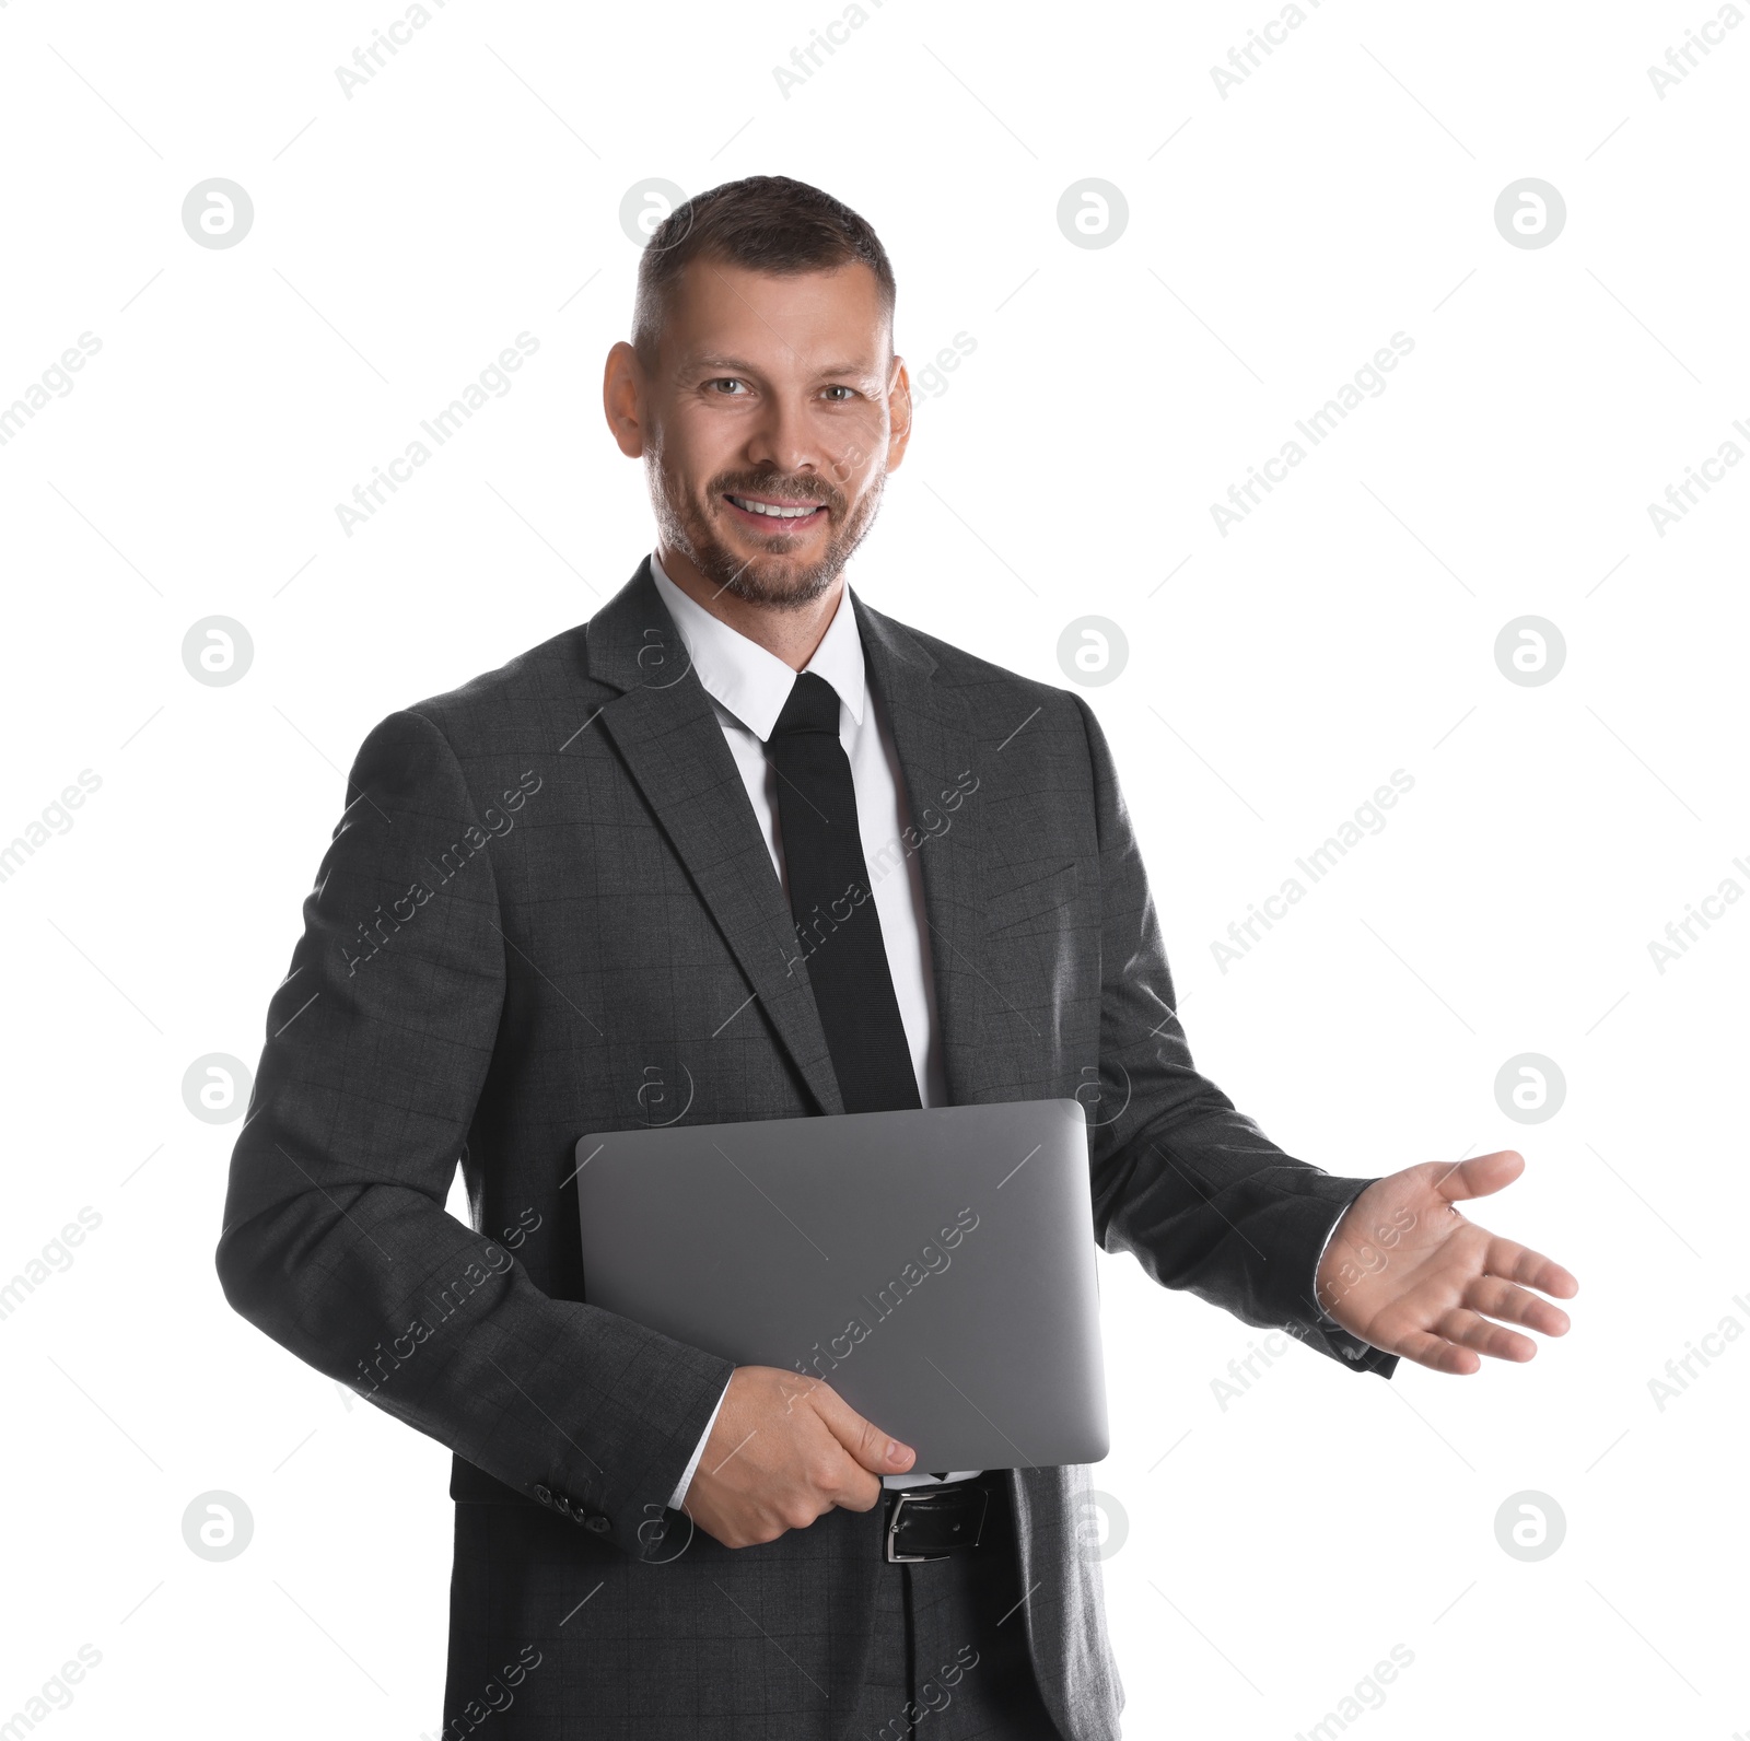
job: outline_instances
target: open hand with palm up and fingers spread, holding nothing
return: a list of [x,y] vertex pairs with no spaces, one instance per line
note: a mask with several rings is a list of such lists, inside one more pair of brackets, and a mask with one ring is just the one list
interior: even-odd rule
[[1538,1293],[1568,1300],[1580,1284],[1554,1260],[1477,1227],[1456,1207],[1512,1185],[1522,1171],[1524,1157],[1505,1148],[1376,1179],[1325,1248],[1320,1305],[1351,1335],[1435,1372],[1477,1372],[1479,1354],[1531,1360],[1536,1344],[1510,1326],[1564,1335],[1568,1314]]

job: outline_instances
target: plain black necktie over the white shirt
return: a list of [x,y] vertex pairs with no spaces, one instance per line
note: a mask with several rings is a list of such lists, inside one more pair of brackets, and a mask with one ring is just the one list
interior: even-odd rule
[[845,1111],[920,1106],[863,863],[850,761],[838,742],[838,691],[824,677],[798,674],[766,756],[779,775],[796,959],[807,962]]

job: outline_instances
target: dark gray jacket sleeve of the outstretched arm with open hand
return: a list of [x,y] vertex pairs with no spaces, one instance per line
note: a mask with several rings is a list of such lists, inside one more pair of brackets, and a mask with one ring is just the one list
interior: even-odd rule
[[1071,698],[1087,731],[1099,831],[1096,1237],[1104,1251],[1132,1253],[1164,1288],[1390,1379],[1398,1356],[1349,1335],[1312,1291],[1332,1228],[1372,1181],[1284,1155],[1197,1073],[1111,751],[1087,702]]

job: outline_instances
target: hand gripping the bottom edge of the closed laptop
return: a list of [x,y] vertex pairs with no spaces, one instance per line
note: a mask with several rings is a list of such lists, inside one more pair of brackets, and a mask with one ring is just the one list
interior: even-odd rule
[[724,1547],[752,1547],[835,1505],[873,1510],[880,1477],[903,1475],[915,1458],[830,1384],[737,1367],[681,1507]]

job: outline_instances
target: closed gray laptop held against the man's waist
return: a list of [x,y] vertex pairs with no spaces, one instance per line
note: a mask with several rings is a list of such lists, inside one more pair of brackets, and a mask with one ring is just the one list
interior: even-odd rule
[[1106,1456],[1080,1101],[578,1143],[592,1305],[822,1379],[914,1470]]

